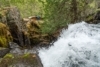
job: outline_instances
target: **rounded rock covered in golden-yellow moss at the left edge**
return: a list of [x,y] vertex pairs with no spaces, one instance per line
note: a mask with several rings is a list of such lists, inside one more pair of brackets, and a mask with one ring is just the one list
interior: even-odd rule
[[8,47],[10,41],[12,41],[12,36],[9,32],[9,28],[0,22],[0,46]]

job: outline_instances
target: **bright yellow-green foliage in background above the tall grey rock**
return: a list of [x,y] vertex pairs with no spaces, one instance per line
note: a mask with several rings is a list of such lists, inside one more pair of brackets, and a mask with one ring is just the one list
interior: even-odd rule
[[38,0],[0,0],[0,7],[17,6],[22,17],[42,15],[42,4]]

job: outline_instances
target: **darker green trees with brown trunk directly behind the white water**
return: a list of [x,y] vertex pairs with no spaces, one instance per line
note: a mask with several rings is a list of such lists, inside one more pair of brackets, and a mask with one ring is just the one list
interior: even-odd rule
[[[52,33],[69,23],[84,21],[93,13],[95,0],[39,0],[44,5],[43,33]],[[88,11],[88,12],[87,12]]]

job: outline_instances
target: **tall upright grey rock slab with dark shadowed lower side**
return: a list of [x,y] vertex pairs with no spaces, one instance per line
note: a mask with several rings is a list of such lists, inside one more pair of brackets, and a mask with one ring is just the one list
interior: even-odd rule
[[13,36],[13,41],[18,43],[20,46],[24,45],[23,42],[23,29],[25,27],[20,16],[18,8],[11,7],[7,9],[7,25],[10,28],[10,32]]

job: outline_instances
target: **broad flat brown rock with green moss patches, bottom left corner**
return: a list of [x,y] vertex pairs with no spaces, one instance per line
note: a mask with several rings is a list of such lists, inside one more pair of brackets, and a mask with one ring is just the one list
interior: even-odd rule
[[[22,66],[21,66],[22,65]],[[36,54],[7,54],[0,62],[0,67],[43,67]]]

